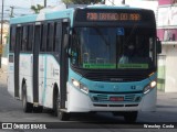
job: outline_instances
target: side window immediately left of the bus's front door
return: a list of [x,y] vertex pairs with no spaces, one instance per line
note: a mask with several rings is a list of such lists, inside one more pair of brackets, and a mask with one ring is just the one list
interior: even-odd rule
[[54,35],[54,52],[61,52],[61,41],[62,41],[62,24],[61,22],[55,22],[55,35]]

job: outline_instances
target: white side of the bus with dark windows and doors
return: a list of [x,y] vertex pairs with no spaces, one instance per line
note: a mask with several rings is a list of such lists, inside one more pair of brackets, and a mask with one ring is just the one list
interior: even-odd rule
[[66,108],[67,59],[63,43],[69,23],[53,20],[17,25],[11,30],[15,40],[10,38],[10,51],[14,53],[9,54],[9,92],[22,99],[25,84],[28,102],[53,108],[56,87]]

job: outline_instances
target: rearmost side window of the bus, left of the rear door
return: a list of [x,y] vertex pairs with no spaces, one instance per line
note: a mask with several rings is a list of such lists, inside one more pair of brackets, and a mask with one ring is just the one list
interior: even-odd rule
[[10,52],[14,52],[15,44],[15,25],[10,28]]

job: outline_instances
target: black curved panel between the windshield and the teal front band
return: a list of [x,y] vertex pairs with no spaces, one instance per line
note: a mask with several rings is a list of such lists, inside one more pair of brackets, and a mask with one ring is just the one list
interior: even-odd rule
[[72,67],[74,72],[84,78],[94,81],[140,81],[148,78],[155,69],[80,69]]

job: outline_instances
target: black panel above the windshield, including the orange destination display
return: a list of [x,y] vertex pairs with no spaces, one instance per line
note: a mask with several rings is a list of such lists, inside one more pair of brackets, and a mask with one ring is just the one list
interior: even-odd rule
[[77,9],[74,15],[75,26],[87,25],[112,25],[119,24],[152,26],[155,24],[154,12],[150,10],[131,9]]

